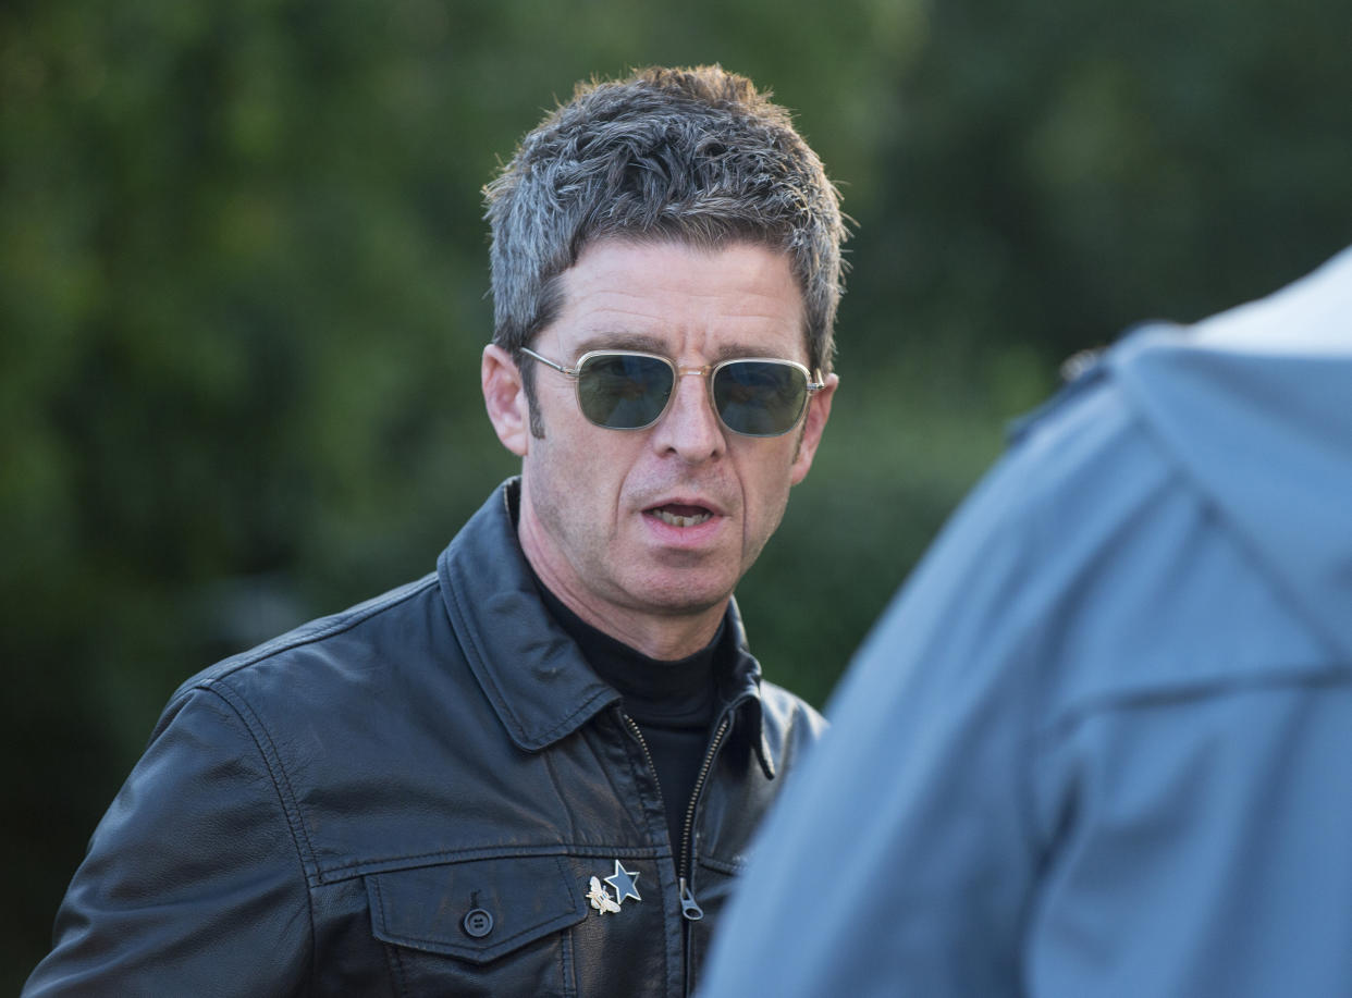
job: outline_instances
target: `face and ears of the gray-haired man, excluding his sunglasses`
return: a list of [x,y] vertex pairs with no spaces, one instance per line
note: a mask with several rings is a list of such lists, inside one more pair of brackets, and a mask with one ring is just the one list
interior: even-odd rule
[[[733,357],[807,364],[803,299],[788,257],[763,246],[600,241],[562,287],[560,315],[531,349],[568,366],[596,349],[658,353],[683,369]],[[583,619],[650,655],[653,642],[639,636],[654,627],[681,619],[717,626],[779,526],[790,487],[811,467],[836,377],[813,396],[799,427],[752,438],[719,422],[699,375],[677,379],[653,426],[610,430],[583,417],[571,379],[535,362],[544,437],[533,437],[516,422],[526,406],[519,387],[506,421],[495,415],[492,392],[506,398],[506,389],[489,385],[492,350],[484,391],[499,435],[522,456],[519,536],[545,584]],[[519,385],[499,354],[496,375]]]

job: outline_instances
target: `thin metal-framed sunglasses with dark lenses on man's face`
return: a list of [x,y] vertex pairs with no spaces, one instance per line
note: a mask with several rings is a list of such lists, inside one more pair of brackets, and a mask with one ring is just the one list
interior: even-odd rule
[[565,368],[525,346],[522,353],[573,379],[577,407],[607,430],[648,429],[671,404],[676,379],[700,375],[723,426],[744,437],[780,437],[803,418],[807,400],[826,387],[821,373],[813,380],[802,364],[771,357],[677,368],[656,353],[588,350],[576,368]]

